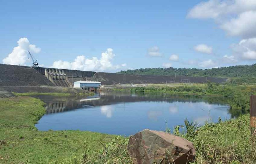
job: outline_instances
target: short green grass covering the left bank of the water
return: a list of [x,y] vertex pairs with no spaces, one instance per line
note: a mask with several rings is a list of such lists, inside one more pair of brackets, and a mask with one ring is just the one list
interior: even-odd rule
[[45,113],[39,99],[19,96],[0,98],[0,163],[76,163],[84,154],[84,141],[101,150],[115,135],[86,131],[38,131]]

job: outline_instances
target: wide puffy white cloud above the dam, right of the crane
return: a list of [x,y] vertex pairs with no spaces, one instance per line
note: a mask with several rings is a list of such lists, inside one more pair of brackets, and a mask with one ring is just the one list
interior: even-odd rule
[[[115,70],[119,69],[119,65],[113,65],[111,61],[113,60],[115,54],[112,48],[107,48],[106,52],[101,54],[101,58],[97,57],[86,58],[85,56],[77,56],[73,62],[68,61],[54,61],[52,68],[62,68],[62,69],[75,69],[83,71],[104,71],[104,70]],[[126,66],[126,64],[122,64]]]

